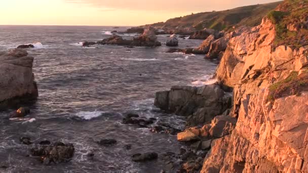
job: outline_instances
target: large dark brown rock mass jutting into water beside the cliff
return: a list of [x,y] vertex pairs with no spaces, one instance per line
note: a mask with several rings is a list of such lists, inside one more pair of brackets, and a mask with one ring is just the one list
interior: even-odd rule
[[202,87],[173,86],[170,91],[158,92],[155,105],[168,112],[187,116],[188,126],[210,122],[228,109],[232,101],[219,85]]

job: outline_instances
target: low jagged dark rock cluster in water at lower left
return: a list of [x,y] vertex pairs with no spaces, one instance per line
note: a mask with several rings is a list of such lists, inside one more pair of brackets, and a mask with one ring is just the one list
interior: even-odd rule
[[72,144],[66,144],[64,146],[46,146],[39,145],[31,149],[33,156],[41,156],[44,164],[50,164],[52,162],[67,162],[74,155],[74,146]]

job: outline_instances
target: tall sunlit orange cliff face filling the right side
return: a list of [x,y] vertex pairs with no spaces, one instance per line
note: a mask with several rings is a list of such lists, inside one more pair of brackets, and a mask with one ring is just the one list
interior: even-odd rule
[[[307,4],[277,10],[288,6],[292,16]],[[216,77],[234,87],[230,116],[238,121],[212,142],[201,172],[308,172],[308,46],[277,46],[279,27],[265,17],[230,39]]]

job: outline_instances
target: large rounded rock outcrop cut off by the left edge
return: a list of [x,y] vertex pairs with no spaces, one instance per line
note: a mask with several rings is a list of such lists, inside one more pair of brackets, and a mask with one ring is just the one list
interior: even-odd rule
[[22,49],[0,52],[0,110],[18,106],[21,102],[35,100],[38,96],[33,57]]

